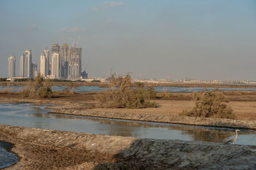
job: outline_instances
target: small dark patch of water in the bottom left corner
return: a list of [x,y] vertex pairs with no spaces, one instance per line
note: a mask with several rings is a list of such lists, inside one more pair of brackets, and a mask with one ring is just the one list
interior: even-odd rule
[[8,166],[12,166],[18,161],[18,158],[14,153],[8,152],[12,148],[11,143],[0,141],[0,169]]

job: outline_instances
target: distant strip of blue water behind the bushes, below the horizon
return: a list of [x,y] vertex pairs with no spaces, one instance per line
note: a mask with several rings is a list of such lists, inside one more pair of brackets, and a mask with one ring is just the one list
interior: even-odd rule
[[[63,90],[65,86],[52,86],[52,90]],[[3,86],[0,85],[0,91],[10,91],[10,92],[21,92],[24,86]],[[108,88],[101,88],[98,86],[81,86],[74,89],[76,92],[92,92],[92,91],[102,91]],[[204,90],[204,87],[154,87],[156,92],[200,92]],[[214,88],[207,88],[212,90]],[[244,91],[244,92],[255,92],[256,88],[219,88],[223,91]]]

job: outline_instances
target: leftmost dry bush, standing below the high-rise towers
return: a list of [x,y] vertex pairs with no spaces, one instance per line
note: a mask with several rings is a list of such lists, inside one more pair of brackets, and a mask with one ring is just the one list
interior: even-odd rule
[[39,97],[50,98],[53,97],[51,90],[51,82],[49,79],[44,79],[43,76],[38,74],[35,81],[31,82],[31,87],[24,89],[21,92],[22,97]]

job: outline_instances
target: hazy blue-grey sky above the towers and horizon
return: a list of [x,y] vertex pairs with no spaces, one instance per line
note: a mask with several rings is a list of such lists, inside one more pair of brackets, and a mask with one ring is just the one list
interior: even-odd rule
[[76,41],[89,76],[256,80],[255,0],[0,0],[0,23],[0,76]]

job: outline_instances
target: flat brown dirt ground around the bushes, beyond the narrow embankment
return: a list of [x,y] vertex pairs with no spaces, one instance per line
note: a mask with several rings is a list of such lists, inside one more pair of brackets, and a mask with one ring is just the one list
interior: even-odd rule
[[[111,108],[97,108],[97,101],[95,100],[96,92],[88,92],[83,94],[61,94],[58,97],[51,99],[40,99],[40,101],[46,102],[58,102],[65,103],[67,101],[71,103],[79,103],[81,106],[86,103],[94,104],[96,106],[95,111],[110,111],[110,112],[122,112],[122,113],[143,113],[153,115],[172,115],[178,116],[184,110],[193,108],[195,102],[192,100],[192,93],[172,93],[171,97],[158,97],[156,103],[158,108],[145,108],[145,109],[111,109]],[[225,97],[230,100],[228,103],[237,117],[240,120],[256,120],[256,92],[225,92]],[[17,92],[12,93],[0,93],[0,101],[4,99],[24,99]]]

